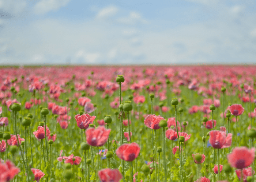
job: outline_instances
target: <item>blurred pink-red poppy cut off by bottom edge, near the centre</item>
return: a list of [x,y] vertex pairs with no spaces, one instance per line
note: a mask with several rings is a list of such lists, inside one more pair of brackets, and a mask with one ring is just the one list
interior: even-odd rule
[[99,179],[102,182],[119,182],[122,174],[118,169],[102,169],[98,171]]

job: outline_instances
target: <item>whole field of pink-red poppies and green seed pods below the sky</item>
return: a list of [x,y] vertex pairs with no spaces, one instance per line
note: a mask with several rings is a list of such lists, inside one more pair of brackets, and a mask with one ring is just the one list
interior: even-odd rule
[[255,95],[255,66],[2,67],[0,182],[254,182]]

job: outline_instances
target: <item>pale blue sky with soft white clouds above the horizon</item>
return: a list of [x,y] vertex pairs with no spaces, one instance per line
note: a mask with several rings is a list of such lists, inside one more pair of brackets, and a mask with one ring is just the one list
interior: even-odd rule
[[255,64],[255,0],[0,0],[3,64]]

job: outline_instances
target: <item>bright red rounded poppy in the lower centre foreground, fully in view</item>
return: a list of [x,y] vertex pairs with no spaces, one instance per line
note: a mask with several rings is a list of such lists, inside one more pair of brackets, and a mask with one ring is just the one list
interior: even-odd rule
[[125,161],[133,161],[135,158],[138,157],[140,153],[140,147],[137,143],[125,143],[118,147],[116,150],[116,155],[120,159],[123,159]]

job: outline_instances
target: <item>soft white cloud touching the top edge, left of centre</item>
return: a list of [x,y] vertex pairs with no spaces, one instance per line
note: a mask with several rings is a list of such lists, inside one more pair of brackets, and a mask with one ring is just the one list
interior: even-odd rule
[[34,6],[34,13],[44,14],[49,11],[57,11],[64,7],[70,0],[41,0]]

